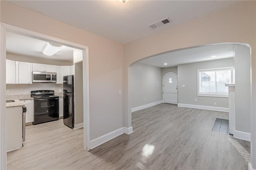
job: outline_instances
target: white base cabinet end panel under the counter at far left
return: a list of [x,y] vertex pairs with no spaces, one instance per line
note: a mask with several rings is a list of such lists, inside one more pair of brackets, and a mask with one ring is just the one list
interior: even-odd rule
[[22,107],[6,108],[7,152],[22,148]]

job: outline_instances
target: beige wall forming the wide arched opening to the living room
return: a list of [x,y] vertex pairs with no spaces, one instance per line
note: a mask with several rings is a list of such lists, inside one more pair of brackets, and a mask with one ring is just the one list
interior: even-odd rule
[[[125,44],[124,126],[131,126],[131,77],[129,66],[140,59],[165,51],[211,43],[248,43],[252,47],[252,87],[255,89],[255,17],[255,2],[245,1]],[[253,102],[255,104],[255,101]]]

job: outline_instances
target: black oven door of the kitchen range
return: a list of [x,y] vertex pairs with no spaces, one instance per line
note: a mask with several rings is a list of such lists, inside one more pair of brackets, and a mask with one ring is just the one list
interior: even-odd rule
[[59,98],[34,99],[34,125],[59,119]]

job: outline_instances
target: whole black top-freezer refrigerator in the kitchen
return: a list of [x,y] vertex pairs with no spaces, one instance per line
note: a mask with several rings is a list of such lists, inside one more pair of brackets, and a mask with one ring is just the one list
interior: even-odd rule
[[74,128],[74,75],[63,77],[63,123]]

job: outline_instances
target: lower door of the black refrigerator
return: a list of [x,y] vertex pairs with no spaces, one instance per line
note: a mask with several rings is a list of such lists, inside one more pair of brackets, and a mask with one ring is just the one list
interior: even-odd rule
[[74,128],[74,94],[63,94],[63,123]]

